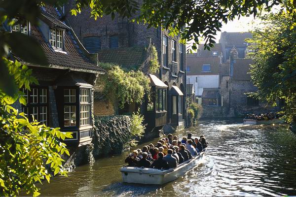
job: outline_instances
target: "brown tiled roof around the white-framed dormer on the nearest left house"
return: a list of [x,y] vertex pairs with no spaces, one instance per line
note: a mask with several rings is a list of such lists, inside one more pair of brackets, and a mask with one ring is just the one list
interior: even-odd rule
[[[43,12],[48,12],[51,18],[55,18],[58,16],[58,11],[53,8],[46,6],[43,9]],[[55,18],[55,20],[58,20]],[[62,22],[61,22],[62,23]],[[62,23],[63,24],[63,23]],[[67,26],[68,27],[68,26]],[[79,41],[75,37],[74,33],[70,30],[65,31],[64,34],[64,51],[55,51],[50,45],[49,41],[42,34],[39,27],[31,26],[31,35],[36,38],[36,40],[40,43],[41,48],[44,51],[44,54],[47,58],[49,67],[58,67],[58,68],[70,68],[78,71],[85,72],[105,72],[104,69],[93,64],[85,55],[87,55],[87,51],[79,47],[77,44]],[[90,55],[90,54],[88,54]]]

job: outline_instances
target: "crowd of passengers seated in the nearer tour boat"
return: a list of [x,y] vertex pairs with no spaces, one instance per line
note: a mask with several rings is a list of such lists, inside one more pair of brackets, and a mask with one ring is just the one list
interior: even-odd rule
[[177,167],[208,147],[204,135],[192,138],[192,133],[179,141],[178,136],[168,134],[166,138],[158,140],[155,146],[151,143],[143,146],[142,150],[134,150],[125,159],[127,166],[146,167],[155,169],[169,169]]

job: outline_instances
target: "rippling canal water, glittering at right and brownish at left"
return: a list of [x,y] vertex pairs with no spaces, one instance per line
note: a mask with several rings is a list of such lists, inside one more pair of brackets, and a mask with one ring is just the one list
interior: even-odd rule
[[124,152],[38,185],[41,196],[296,195],[296,134],[287,125],[245,126],[241,122],[200,121],[195,128],[176,132],[179,137],[187,132],[204,134],[209,148],[202,164],[165,185],[122,183],[119,168],[128,155]]

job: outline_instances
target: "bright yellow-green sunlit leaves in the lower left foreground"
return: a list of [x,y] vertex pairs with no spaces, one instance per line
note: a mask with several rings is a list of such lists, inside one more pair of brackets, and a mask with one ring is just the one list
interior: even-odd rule
[[[30,90],[30,84],[37,83],[27,66],[4,58],[2,61],[8,66],[17,88]],[[51,177],[45,164],[50,165],[54,175],[66,175],[60,154],[69,155],[69,151],[59,139],[71,138],[71,132],[30,123],[23,112],[11,106],[17,100],[26,104],[21,94],[19,91],[11,97],[0,89],[0,196],[16,196],[21,189],[38,196],[35,182],[41,183],[42,179],[49,182]]]

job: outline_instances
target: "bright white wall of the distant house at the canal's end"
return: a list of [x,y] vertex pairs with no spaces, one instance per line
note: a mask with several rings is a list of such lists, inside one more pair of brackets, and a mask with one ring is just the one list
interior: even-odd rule
[[[197,81],[196,81],[197,77]],[[196,96],[201,96],[204,88],[219,88],[219,75],[187,75],[186,83],[193,84]]]

